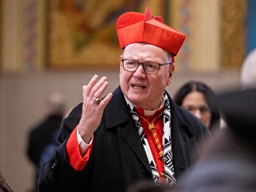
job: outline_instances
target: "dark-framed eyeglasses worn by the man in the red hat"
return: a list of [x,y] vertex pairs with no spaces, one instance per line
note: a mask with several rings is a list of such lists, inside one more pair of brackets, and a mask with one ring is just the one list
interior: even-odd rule
[[147,74],[157,74],[160,69],[160,66],[171,65],[171,63],[164,63],[164,64],[159,64],[154,62],[139,63],[135,60],[130,60],[130,59],[121,59],[121,61],[123,62],[124,70],[129,72],[134,72],[138,69],[139,65],[142,65],[145,73]]

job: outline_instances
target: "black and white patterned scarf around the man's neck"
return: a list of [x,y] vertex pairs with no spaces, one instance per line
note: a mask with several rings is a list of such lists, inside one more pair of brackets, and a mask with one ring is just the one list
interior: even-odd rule
[[[163,96],[165,98],[165,108],[163,111],[163,161],[165,164],[166,183],[168,183],[168,185],[174,185],[176,184],[176,179],[174,177],[174,166],[171,148],[171,110],[167,94],[163,93]],[[135,121],[136,126],[138,127],[138,133],[140,135],[140,139],[143,143],[144,150],[149,160],[149,165],[151,167],[151,171],[154,177],[154,182],[160,184],[161,182],[159,173],[157,171],[157,166],[155,165],[155,161],[149,147],[148,139],[146,138],[143,127],[141,126],[138,113],[136,112],[133,104],[127,98],[126,102],[130,107],[130,113],[132,114],[132,118]]]

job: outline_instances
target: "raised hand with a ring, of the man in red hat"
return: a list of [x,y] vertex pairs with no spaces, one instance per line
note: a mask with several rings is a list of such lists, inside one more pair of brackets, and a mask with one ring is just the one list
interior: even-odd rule
[[98,76],[94,75],[89,84],[83,87],[84,104],[78,131],[86,143],[90,142],[91,136],[101,123],[104,108],[112,99],[112,93],[101,99],[107,85],[107,77],[98,80]]

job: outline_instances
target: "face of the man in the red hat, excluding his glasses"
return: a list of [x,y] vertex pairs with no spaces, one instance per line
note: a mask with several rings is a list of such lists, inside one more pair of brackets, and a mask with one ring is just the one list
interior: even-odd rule
[[[136,60],[140,63],[169,63],[167,53],[152,44],[133,43],[126,46],[123,59]],[[120,87],[127,99],[137,107],[155,110],[160,107],[166,85],[171,84],[174,64],[161,66],[157,74],[145,73],[139,65],[135,72],[125,71],[120,60]]]

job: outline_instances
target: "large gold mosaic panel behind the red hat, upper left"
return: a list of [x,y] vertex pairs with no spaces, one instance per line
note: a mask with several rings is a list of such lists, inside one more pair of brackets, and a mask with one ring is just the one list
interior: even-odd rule
[[116,18],[127,10],[144,13],[146,5],[153,15],[160,15],[164,8],[163,0],[49,1],[49,68],[118,68],[122,51]]

